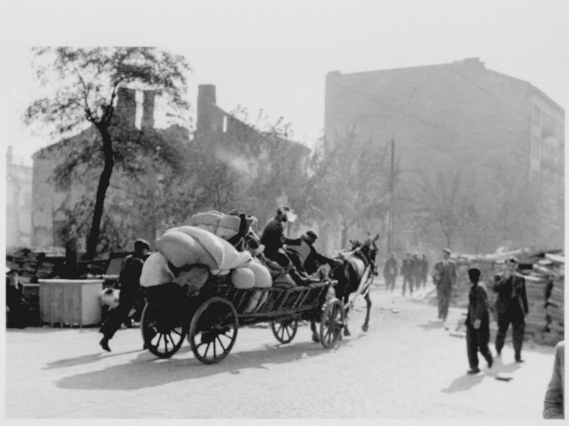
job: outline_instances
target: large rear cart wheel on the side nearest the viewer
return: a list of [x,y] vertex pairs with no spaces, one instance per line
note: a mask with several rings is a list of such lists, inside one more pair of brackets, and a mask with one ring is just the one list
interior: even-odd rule
[[221,297],[208,299],[191,319],[188,340],[193,354],[203,363],[218,363],[231,351],[238,327],[233,304]]

